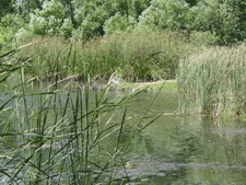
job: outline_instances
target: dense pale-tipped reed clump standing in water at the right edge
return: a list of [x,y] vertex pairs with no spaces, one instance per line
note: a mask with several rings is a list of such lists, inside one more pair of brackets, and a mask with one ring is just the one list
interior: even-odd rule
[[[246,46],[213,47],[181,60],[180,100],[195,100],[201,113],[246,113]],[[190,96],[192,95],[192,97]]]

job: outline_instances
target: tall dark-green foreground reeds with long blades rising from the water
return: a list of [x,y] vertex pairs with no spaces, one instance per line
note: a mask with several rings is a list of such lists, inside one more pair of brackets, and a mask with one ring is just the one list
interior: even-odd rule
[[[25,77],[33,58],[16,56],[17,50],[0,55],[0,184],[113,184],[117,169],[126,167],[131,139],[161,115],[140,128],[150,107],[130,119],[127,105],[141,91],[120,99],[112,99],[107,89],[91,94],[90,78],[73,93],[59,90],[58,57],[55,83],[46,86],[40,81],[35,88],[36,78]],[[118,111],[120,119],[115,118]],[[122,143],[129,122],[137,127]],[[115,147],[108,148],[104,141],[113,134]]]

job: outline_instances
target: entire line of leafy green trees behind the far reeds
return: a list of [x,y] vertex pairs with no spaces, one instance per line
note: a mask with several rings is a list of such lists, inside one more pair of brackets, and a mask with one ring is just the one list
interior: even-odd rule
[[245,0],[1,0],[0,43],[16,33],[90,39],[114,32],[204,35],[214,44],[244,42]]

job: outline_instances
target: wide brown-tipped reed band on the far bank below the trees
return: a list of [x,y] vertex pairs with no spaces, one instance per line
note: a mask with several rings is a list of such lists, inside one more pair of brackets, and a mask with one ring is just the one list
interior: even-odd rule
[[86,43],[58,37],[32,42],[37,43],[20,53],[34,56],[28,76],[54,77],[59,68],[61,79],[83,77],[84,70],[93,78],[109,78],[116,72],[127,81],[174,79],[178,59],[197,50],[185,36],[167,32],[118,33]]

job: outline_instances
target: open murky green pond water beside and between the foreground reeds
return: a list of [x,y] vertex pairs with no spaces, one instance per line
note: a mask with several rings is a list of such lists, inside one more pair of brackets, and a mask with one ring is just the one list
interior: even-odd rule
[[[112,99],[127,93],[108,92]],[[63,96],[66,94],[61,94]],[[74,99],[75,93],[71,93],[71,96]],[[127,143],[137,127],[141,129],[160,113],[168,114],[156,119],[130,141],[124,157],[125,167],[119,166],[115,184],[152,184],[151,181],[156,185],[246,183],[246,123],[213,119],[202,115],[178,115],[175,113],[178,109],[177,93],[165,92],[160,93],[156,99],[155,96],[155,92],[141,93],[128,104],[127,122],[119,147]],[[93,91],[90,92],[90,103],[93,104]],[[1,101],[4,102],[4,99],[7,96],[2,95]],[[27,104],[32,103],[32,107],[35,106],[33,102],[31,97],[27,99]],[[148,118],[138,120],[148,107]],[[122,113],[124,108],[115,112],[110,123],[120,120]],[[1,114],[1,119],[7,117],[8,114]],[[15,124],[11,129],[20,127],[17,118]],[[3,125],[0,127],[3,129]],[[107,148],[108,153],[112,153],[117,137],[113,132],[101,147]],[[99,180],[101,184],[108,181],[109,172],[105,174]]]

